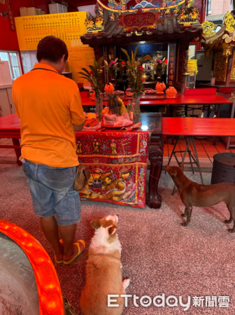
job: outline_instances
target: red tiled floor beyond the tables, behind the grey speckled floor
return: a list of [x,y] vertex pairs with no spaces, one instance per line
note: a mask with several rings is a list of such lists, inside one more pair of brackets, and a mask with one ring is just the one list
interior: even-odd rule
[[[213,145],[212,141],[208,141],[206,139],[195,139],[195,143],[197,146],[197,154],[199,155],[199,161],[201,167],[212,167],[213,165],[213,155],[217,153],[223,153],[223,152],[232,152],[235,153],[235,148],[231,150],[226,150],[225,144],[220,141],[216,144],[216,146]],[[0,139],[0,144],[12,144],[11,139]],[[194,154],[194,150],[192,148],[192,144],[190,144],[191,151]],[[185,139],[180,139],[178,141],[178,144],[176,146],[177,151],[183,151],[186,148]],[[173,144],[171,144],[171,137],[167,138],[167,141],[165,141],[164,144],[164,161],[163,164],[166,165],[169,161],[169,157],[171,155],[171,152],[173,150]],[[177,154],[178,159],[181,160],[183,158],[183,153]],[[4,161],[16,161],[16,155],[14,149],[5,149],[0,148],[0,162]],[[189,162],[188,155],[185,158],[185,162]],[[176,165],[176,159],[172,158],[171,165]]]

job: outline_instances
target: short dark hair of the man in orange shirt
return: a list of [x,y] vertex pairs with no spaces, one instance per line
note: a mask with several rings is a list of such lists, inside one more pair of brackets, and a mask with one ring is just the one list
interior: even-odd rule
[[37,59],[41,62],[41,59],[48,60],[50,62],[59,62],[64,56],[64,61],[69,57],[68,48],[66,43],[55,36],[46,36],[38,43]]

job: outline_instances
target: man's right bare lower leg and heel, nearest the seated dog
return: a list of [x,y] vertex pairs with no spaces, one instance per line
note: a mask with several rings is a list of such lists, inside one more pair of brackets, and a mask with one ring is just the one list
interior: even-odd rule
[[[71,260],[78,253],[78,247],[74,245],[75,235],[76,235],[76,224],[72,225],[58,225],[59,234],[62,237],[64,244],[64,255],[63,259],[65,261]],[[80,251],[83,251],[83,244],[79,243]]]

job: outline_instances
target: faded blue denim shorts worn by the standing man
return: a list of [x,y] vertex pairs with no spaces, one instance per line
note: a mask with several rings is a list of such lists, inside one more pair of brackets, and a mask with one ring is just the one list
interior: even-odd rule
[[76,167],[49,167],[24,159],[34,213],[48,218],[56,215],[58,225],[72,225],[80,218],[80,198],[73,190]]

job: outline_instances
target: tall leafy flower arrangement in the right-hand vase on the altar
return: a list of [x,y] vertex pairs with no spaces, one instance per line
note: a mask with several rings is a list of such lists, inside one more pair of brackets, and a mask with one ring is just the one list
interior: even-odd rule
[[127,67],[127,77],[129,80],[129,84],[131,85],[132,92],[136,94],[136,96],[139,96],[141,94],[141,90],[143,89],[143,62],[145,60],[150,59],[151,57],[149,55],[146,55],[143,57],[140,61],[136,61],[136,55],[138,52],[138,46],[136,47],[136,50],[131,51],[131,58],[129,57],[129,54],[127,50],[122,49],[125,55],[127,55],[127,62],[124,60],[122,61],[122,64]]

